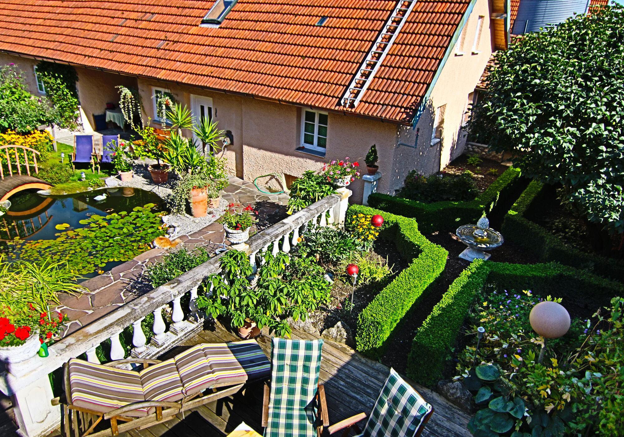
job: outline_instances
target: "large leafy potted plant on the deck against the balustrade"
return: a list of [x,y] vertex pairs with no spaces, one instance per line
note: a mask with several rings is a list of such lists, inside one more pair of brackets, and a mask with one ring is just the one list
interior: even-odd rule
[[278,336],[290,337],[288,318],[305,320],[321,303],[329,301],[331,287],[322,271],[293,280],[290,258],[284,252],[273,256],[267,251],[264,260],[252,276],[249,256],[228,251],[221,258],[222,273],[207,278],[210,285],[205,288],[212,286],[212,293],[198,298],[198,308],[214,318],[230,318],[243,338],[257,335],[257,328],[265,326]]

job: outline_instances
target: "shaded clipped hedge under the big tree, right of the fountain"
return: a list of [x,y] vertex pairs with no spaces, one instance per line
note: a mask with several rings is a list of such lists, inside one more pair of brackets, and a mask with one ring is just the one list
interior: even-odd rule
[[621,261],[568,247],[548,230],[524,217],[527,211],[539,207],[543,188],[544,185],[534,180],[507,212],[500,230],[505,240],[534,253],[542,262],[556,261],[576,268],[593,266],[593,272],[598,275],[624,282]]

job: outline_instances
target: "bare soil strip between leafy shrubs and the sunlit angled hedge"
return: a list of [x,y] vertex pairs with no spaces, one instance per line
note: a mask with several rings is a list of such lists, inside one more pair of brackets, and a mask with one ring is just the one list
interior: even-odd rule
[[[388,260],[388,264],[392,267],[392,275],[384,278],[381,282],[373,282],[368,285],[356,284],[353,310],[349,313],[349,305],[345,305],[345,300],[351,301],[351,292],[353,286],[346,274],[339,275],[334,278],[334,286],[331,289],[331,302],[323,307],[318,308],[310,315],[310,320],[314,327],[319,331],[331,328],[336,323],[342,321],[346,323],[353,335],[358,325],[358,314],[373,301],[373,298],[390,283],[397,274],[407,267],[406,260],[401,258],[396,246],[393,242],[387,240],[377,240],[375,242],[373,252]],[[340,304],[340,307],[338,307]]]

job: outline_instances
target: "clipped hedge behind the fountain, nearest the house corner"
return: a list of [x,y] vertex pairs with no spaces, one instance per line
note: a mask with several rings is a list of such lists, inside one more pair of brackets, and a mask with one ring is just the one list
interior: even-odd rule
[[512,189],[519,180],[520,170],[510,167],[475,200],[467,202],[434,202],[423,204],[388,194],[373,193],[368,204],[376,209],[416,219],[421,232],[457,228],[462,223],[476,222],[484,212],[489,212],[501,194]]

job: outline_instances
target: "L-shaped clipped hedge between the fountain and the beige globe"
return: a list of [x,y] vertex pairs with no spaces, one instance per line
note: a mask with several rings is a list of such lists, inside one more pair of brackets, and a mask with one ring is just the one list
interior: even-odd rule
[[407,376],[431,386],[442,378],[446,357],[457,341],[474,297],[486,283],[500,288],[533,290],[545,297],[574,300],[587,292],[598,295],[601,305],[621,295],[622,284],[558,263],[508,264],[475,260],[444,293],[416,332],[407,358]]

